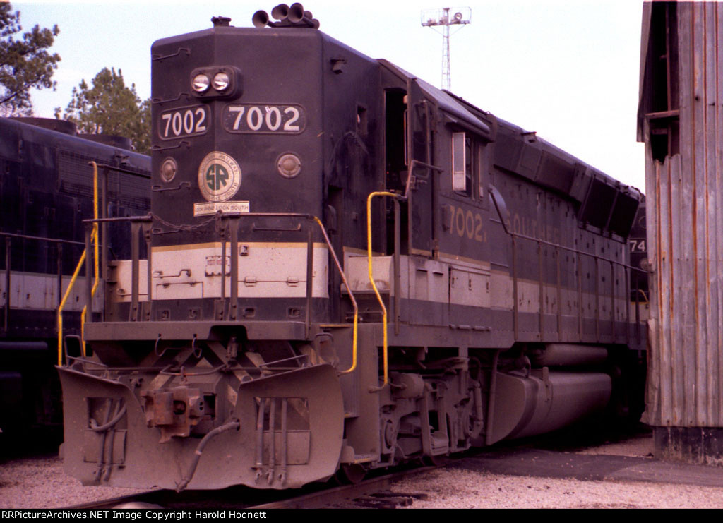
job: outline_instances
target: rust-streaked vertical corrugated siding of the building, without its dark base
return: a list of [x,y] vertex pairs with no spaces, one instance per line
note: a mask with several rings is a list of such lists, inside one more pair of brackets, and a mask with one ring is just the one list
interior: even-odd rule
[[645,419],[723,427],[723,4],[677,4],[677,30],[680,154],[661,165],[646,150],[654,302]]

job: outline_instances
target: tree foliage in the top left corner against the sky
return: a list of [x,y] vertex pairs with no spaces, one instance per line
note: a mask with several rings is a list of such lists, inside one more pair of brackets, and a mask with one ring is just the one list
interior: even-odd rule
[[35,25],[20,37],[21,31],[20,12],[0,2],[0,110],[4,114],[32,113],[33,87],[55,89],[52,78],[60,56],[48,48],[60,33],[58,26],[40,29]]

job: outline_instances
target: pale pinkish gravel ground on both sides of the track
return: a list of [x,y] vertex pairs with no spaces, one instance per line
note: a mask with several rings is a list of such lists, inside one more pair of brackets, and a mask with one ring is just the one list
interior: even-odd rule
[[[631,438],[578,454],[650,457],[652,440]],[[413,509],[443,508],[720,508],[723,488],[621,481],[581,481],[438,469],[395,483],[397,493],[426,493]],[[83,487],[57,457],[16,459],[0,465],[0,508],[61,508],[140,492]]]

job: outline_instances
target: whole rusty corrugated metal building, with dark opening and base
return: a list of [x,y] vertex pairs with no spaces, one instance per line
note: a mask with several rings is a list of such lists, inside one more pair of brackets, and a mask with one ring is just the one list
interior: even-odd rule
[[662,457],[723,463],[723,4],[646,2],[646,413]]

